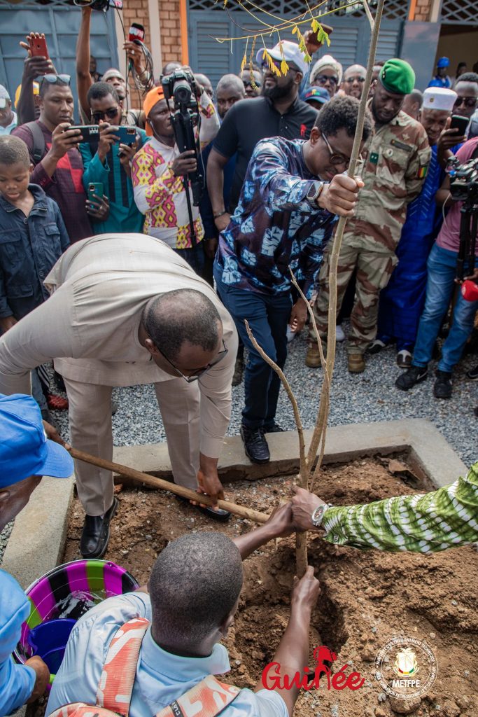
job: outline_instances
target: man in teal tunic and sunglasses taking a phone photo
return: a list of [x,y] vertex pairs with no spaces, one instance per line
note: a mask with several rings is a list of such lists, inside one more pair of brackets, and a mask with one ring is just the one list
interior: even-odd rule
[[[143,215],[135,205],[130,163],[145,142],[146,133],[138,127],[121,125],[120,99],[116,90],[107,82],[91,85],[87,99],[91,121],[93,125],[99,125],[100,132],[98,141],[84,141],[80,144],[85,166],[83,186],[88,190],[93,185],[93,201],[109,201],[110,206],[108,216],[102,222],[95,222],[95,233],[142,232]],[[128,143],[125,143],[118,138],[118,131],[128,129],[133,133]],[[98,184],[102,188],[100,196],[95,186]]]

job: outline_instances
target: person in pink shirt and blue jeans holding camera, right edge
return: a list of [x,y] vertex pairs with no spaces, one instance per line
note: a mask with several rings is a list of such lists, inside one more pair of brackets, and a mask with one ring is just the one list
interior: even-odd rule
[[[457,174],[461,174],[460,181],[454,186],[454,179],[447,175],[441,188],[436,193],[436,204],[449,208],[445,221],[441,227],[436,242],[432,248],[427,263],[428,279],[426,283],[426,300],[424,313],[419,323],[419,333],[416,337],[414,359],[411,368],[405,374],[398,376],[395,385],[401,391],[408,391],[415,384],[425,381],[428,375],[428,364],[433,355],[436,338],[438,337],[441,322],[449,308],[449,303],[456,289],[457,282],[469,278],[473,274],[473,266],[467,257],[462,257],[460,249],[464,248],[462,209],[464,204],[470,207],[477,204],[478,192],[477,169],[470,162],[478,156],[478,138],[471,139],[457,152],[457,162],[461,167]],[[471,166],[467,166],[470,162]],[[462,201],[466,199],[467,201]],[[476,217],[476,212],[475,212]],[[468,217],[469,220],[470,217]],[[476,229],[476,227],[475,227]],[[472,239],[472,244],[474,243]],[[475,248],[474,255],[477,255]],[[457,270],[457,265],[461,268]],[[472,333],[474,316],[478,310],[478,300],[467,301],[458,293],[454,305],[453,322],[443,346],[441,346],[441,359],[436,370],[434,396],[437,399],[451,397],[451,377],[454,366],[462,357],[467,339]]]

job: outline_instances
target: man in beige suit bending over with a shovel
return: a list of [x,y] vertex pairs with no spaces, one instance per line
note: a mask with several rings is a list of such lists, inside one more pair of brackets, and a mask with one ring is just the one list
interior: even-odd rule
[[[72,445],[112,460],[112,387],[154,384],[174,480],[221,498],[217,460],[237,336],[211,286],[144,234],[77,242],[45,285],[53,292],[47,302],[0,338],[0,393],[29,393],[29,371],[54,359],[70,401]],[[113,476],[81,461],[75,473],[86,513],[80,549],[98,558],[118,507]]]

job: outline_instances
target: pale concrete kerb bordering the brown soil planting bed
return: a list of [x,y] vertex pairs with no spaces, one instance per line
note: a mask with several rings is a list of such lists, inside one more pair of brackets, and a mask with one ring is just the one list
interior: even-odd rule
[[[311,435],[312,431],[305,432],[307,443]],[[244,454],[239,436],[226,438],[219,462],[219,474],[224,483],[297,472],[297,434],[292,431],[275,433],[269,435],[267,440],[271,449],[271,462],[254,465]],[[467,472],[467,466],[451,450],[434,425],[421,419],[330,428],[324,460],[325,463],[347,462],[367,455],[397,452],[406,454],[419,477],[428,479],[437,488],[453,483],[459,475]],[[166,443],[119,447],[114,451],[113,460],[171,480]],[[121,476],[117,480],[128,483]],[[21,587],[27,588],[61,561],[72,490],[72,480],[44,478],[27,507],[16,518],[1,567],[14,575]]]

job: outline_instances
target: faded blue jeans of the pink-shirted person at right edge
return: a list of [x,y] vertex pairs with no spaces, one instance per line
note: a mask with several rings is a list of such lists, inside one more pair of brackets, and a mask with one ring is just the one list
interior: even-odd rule
[[[413,366],[424,368],[431,361],[441,322],[448,310],[454,288],[457,286],[454,282],[457,273],[457,257],[457,252],[442,249],[437,244],[434,244],[430,252],[426,265],[428,278],[426,280],[425,308],[416,337]],[[458,363],[464,345],[472,333],[477,309],[478,301],[465,301],[462,294],[458,294],[450,333],[441,347],[439,371],[452,371],[455,364]]]

